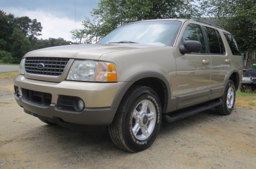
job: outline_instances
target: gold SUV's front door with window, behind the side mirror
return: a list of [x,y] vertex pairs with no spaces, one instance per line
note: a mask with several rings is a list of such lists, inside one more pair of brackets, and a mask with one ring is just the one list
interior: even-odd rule
[[[202,26],[185,22],[177,42],[180,44],[187,40],[200,41],[202,51],[182,54],[178,45],[175,47],[177,74],[174,93],[178,98],[177,109],[209,100],[211,64]],[[203,63],[204,60],[208,62]]]

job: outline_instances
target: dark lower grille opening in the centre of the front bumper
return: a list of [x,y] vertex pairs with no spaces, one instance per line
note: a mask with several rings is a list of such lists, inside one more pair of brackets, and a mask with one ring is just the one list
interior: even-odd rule
[[41,106],[50,106],[52,102],[52,94],[28,90],[25,88],[22,88],[22,97],[27,102],[32,102]]

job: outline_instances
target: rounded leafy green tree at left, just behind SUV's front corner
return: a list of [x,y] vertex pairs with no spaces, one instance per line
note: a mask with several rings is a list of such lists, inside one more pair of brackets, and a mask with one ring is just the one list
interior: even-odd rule
[[11,53],[14,59],[14,63],[19,63],[20,59],[29,51],[32,50],[32,46],[28,38],[23,34],[21,29],[14,28],[14,31],[10,37],[12,43]]

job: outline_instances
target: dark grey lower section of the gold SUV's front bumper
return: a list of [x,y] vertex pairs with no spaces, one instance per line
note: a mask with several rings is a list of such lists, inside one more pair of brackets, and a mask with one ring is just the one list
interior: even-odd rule
[[24,108],[24,112],[28,114],[39,118],[42,116],[52,120],[73,124],[99,126],[109,125],[112,123],[116,113],[116,109],[111,108],[85,108],[82,112],[68,112],[58,110],[56,104],[50,104],[50,106],[44,107],[26,102],[22,96],[15,95],[15,100],[18,105]]

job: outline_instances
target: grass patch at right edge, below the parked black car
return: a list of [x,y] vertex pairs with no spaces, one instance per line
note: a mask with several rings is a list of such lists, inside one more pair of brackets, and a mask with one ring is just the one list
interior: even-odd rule
[[256,108],[256,91],[246,90],[236,92],[236,106],[255,109]]

